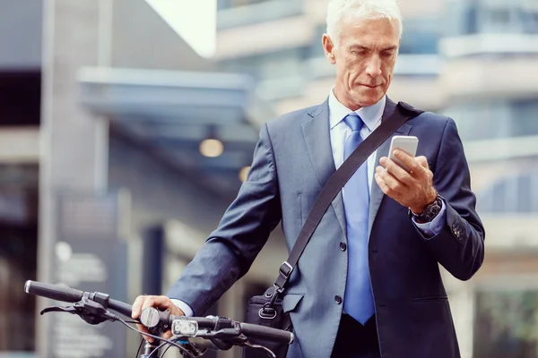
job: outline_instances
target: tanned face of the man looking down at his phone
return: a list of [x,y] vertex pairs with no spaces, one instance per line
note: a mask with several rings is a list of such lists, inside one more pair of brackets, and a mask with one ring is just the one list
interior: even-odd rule
[[325,55],[336,65],[334,95],[353,111],[375,105],[386,94],[400,46],[397,21],[343,19],[340,46],[326,34]]

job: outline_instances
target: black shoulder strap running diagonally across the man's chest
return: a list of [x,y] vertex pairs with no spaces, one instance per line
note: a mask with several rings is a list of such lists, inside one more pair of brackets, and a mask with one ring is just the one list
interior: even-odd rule
[[336,195],[338,195],[338,192],[342,190],[343,185],[347,183],[360,165],[368,159],[369,156],[383,144],[393,132],[395,132],[395,130],[402,126],[407,120],[420,115],[421,113],[421,110],[411,107],[404,102],[399,102],[398,105],[395,106],[394,114],[386,118],[366,140],[362,141],[360,146],[351,153],[351,156],[343,162],[343,165],[331,175],[321,192],[319,192],[314,207],[310,210],[307,221],[300,230],[297,241],[291,249],[290,257],[287,261],[282,263],[282,266],[279,269],[279,276],[274,282],[274,288],[279,293],[282,293],[284,286],[288,283],[291,272],[293,271],[293,268],[295,268],[295,265],[297,265],[300,255],[307,247],[310,237],[312,237],[312,234],[316,231],[321,218],[325,215],[326,209],[331,205],[331,202],[333,202]]

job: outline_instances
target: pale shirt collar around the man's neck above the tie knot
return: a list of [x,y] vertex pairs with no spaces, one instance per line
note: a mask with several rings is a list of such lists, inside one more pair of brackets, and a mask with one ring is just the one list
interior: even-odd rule
[[[386,96],[383,96],[379,101],[369,107],[361,107],[355,111],[357,115],[360,116],[362,122],[366,124],[369,131],[373,131],[376,128],[377,121],[383,115],[386,105]],[[337,124],[343,121],[346,115],[349,115],[351,109],[343,106],[343,104],[334,96],[334,87],[331,89],[329,94],[329,121],[331,124],[331,129],[333,129]]]

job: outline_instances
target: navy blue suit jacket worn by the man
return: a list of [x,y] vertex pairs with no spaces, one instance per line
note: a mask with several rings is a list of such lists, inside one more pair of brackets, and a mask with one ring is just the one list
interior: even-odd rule
[[[395,112],[387,99],[385,119]],[[383,358],[456,358],[459,349],[438,264],[461,280],[482,265],[484,230],[475,212],[469,169],[454,121],[423,113],[395,134],[419,138],[434,185],[445,198],[441,232],[424,237],[408,209],[374,182],[370,194],[369,270]],[[377,150],[387,156],[390,139]],[[169,297],[204,314],[242,277],[279,222],[290,250],[317,194],[334,173],[328,104],[302,109],[265,124],[247,181]],[[283,297],[297,336],[289,357],[329,357],[343,304],[347,241],[342,195],[325,212]],[[275,268],[276,270],[276,268]],[[357,337],[360,339],[360,337]]]

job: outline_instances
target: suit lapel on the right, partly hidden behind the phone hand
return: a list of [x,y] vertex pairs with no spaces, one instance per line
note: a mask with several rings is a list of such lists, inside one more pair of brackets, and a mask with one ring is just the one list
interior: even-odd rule
[[[385,121],[386,118],[390,117],[391,115],[395,114],[396,104],[389,98],[386,98],[386,106],[385,111],[383,112],[383,118],[381,121]],[[377,149],[377,155],[376,155],[376,162],[374,164],[374,167],[377,167],[379,165],[379,159],[381,157],[388,157],[388,149],[390,147],[390,141],[392,140],[392,137],[395,135],[407,135],[412,129],[411,124],[403,124],[400,128],[398,128],[393,135],[391,135],[379,148]],[[375,174],[375,171],[374,171]],[[377,217],[377,211],[379,210],[379,207],[381,206],[381,201],[385,197],[385,194],[379,188],[379,185],[376,183],[376,179],[372,179],[372,188],[370,192],[370,205],[369,205],[369,222],[368,222],[368,237],[371,234],[372,226],[374,225],[374,220]]]

